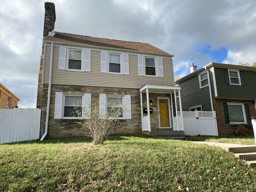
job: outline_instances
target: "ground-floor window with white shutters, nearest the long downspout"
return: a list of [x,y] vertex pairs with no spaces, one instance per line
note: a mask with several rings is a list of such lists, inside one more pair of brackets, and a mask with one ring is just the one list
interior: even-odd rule
[[[54,119],[77,119],[90,116],[91,94],[56,92]],[[84,114],[86,112],[86,114]]]

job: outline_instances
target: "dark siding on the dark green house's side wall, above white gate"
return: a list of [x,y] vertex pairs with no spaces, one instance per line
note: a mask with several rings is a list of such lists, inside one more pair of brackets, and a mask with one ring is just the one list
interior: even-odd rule
[[198,74],[179,83],[181,90],[182,110],[189,111],[190,107],[202,105],[203,111],[211,111],[209,87],[199,87]]

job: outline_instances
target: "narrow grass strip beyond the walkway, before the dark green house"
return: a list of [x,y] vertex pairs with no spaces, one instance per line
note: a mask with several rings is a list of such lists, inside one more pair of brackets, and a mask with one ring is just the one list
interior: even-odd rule
[[186,140],[255,145],[255,139],[253,135],[248,137],[246,136],[186,136]]

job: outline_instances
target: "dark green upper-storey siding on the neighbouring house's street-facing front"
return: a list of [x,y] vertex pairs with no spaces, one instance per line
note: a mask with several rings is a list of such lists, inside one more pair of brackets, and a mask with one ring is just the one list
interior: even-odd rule
[[244,85],[230,85],[225,82],[224,68],[214,68],[218,98],[256,99],[256,72],[242,70]]

